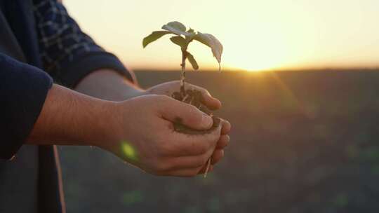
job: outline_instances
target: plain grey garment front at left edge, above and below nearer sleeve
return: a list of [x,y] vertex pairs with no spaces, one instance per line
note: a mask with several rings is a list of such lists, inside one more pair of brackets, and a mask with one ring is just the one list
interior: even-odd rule
[[[0,11],[0,53],[26,62],[11,27]],[[0,212],[37,212],[38,148],[22,146],[13,160],[0,161]]]

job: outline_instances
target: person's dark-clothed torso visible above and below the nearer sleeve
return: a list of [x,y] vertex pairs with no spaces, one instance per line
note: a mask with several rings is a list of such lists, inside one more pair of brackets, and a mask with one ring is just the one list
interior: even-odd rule
[[[16,10],[3,10],[9,5]],[[32,0],[0,0],[0,53],[41,68],[32,6]],[[52,146],[23,145],[12,160],[0,160],[1,213],[62,212],[55,157]]]

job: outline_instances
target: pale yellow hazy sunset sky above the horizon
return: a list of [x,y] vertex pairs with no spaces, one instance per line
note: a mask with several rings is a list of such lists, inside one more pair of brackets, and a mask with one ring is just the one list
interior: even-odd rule
[[[89,4],[91,2],[91,4]],[[85,32],[133,69],[179,69],[169,36],[142,49],[167,22],[215,35],[222,66],[237,69],[376,67],[378,0],[63,0]],[[188,4],[188,6],[185,6]],[[200,69],[218,69],[211,50],[192,43]]]

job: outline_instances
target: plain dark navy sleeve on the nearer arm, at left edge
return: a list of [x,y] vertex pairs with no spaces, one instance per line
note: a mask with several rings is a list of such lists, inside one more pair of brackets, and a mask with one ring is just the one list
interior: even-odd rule
[[53,83],[46,72],[0,53],[0,159],[20,149]]

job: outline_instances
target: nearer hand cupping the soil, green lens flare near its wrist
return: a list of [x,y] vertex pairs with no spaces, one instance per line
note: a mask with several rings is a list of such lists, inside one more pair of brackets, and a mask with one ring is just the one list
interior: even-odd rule
[[[197,130],[211,128],[212,118],[196,107],[165,95],[143,95],[114,104],[109,114],[109,142],[96,144],[112,151],[151,174],[189,177],[201,173],[207,160],[222,153],[213,151],[225,146],[225,125],[204,135],[175,132],[175,118]],[[218,144],[218,142],[221,141]],[[227,142],[226,142],[227,143]]]

